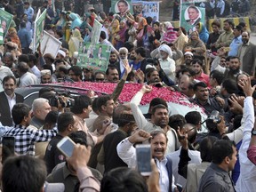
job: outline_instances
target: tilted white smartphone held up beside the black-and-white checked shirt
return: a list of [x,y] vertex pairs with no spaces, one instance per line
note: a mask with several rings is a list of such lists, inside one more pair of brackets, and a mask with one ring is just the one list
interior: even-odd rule
[[75,148],[76,143],[71,140],[68,136],[64,137],[57,144],[57,148],[59,148],[60,152],[67,157],[72,156],[73,150]]

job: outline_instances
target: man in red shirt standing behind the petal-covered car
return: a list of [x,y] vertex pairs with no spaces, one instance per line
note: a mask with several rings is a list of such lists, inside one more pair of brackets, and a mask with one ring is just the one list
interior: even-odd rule
[[192,69],[196,73],[195,79],[200,82],[204,82],[204,84],[207,84],[207,86],[209,87],[210,79],[208,75],[204,74],[202,60],[192,60]]

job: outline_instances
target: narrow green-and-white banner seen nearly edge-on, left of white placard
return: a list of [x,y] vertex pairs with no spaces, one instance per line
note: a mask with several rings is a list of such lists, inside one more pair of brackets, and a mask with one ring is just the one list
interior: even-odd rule
[[[39,15],[38,12],[37,12],[37,16]],[[45,16],[46,16],[46,9],[44,10],[44,12],[42,12],[42,14],[36,17],[35,26],[34,26],[34,37],[33,37],[33,49],[32,49],[33,52],[36,52],[36,48],[38,47],[38,45],[43,39]]]

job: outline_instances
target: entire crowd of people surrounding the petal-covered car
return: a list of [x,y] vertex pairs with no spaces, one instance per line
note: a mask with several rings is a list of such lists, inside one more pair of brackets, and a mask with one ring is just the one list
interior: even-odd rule
[[[198,22],[188,35],[171,21],[92,7],[79,15],[62,11],[63,4],[54,12],[45,1],[44,30],[62,42],[54,57],[40,46],[31,52],[36,10],[16,3],[4,1],[15,17],[0,47],[0,136],[15,139],[15,156],[4,158],[1,171],[4,192],[256,191],[256,45],[244,22],[225,20],[220,28],[214,20],[212,33]],[[99,44],[111,48],[106,72],[76,65],[80,44],[91,41],[94,20],[102,24]],[[98,97],[92,90],[71,103],[44,86],[32,106],[15,93],[17,87],[58,82],[112,83],[116,89]],[[119,103],[127,83],[141,89],[130,102]],[[143,114],[140,101],[155,87],[180,92],[208,118],[203,121],[193,108],[186,116],[172,114],[162,98],[150,100]],[[207,132],[201,132],[202,124]],[[57,148],[66,136],[76,143],[70,157]],[[137,171],[140,143],[151,150],[146,179]]]

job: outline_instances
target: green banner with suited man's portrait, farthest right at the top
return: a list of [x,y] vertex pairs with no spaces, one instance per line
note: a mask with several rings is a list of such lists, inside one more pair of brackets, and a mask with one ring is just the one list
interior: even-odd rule
[[205,9],[189,4],[180,6],[180,26],[188,31],[188,35],[195,30],[196,24],[205,24]]

